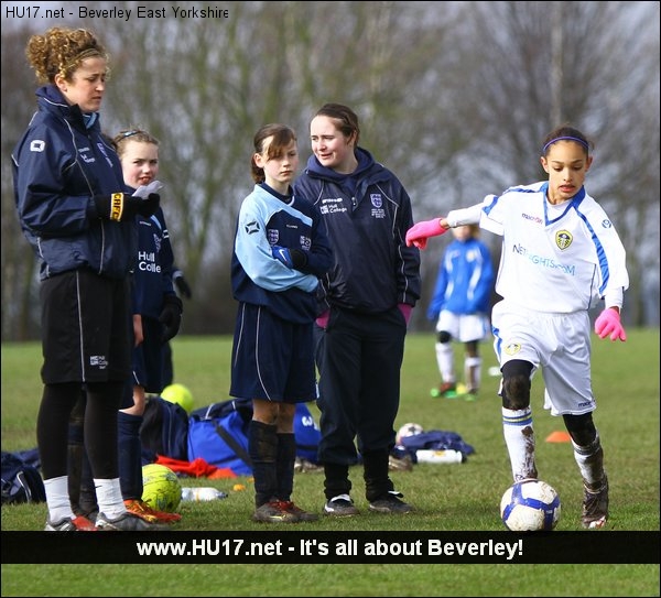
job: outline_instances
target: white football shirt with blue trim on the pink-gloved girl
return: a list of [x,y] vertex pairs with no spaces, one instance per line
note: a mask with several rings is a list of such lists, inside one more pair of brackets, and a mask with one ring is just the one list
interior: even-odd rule
[[554,206],[548,186],[510,187],[481,204],[480,228],[503,241],[496,292],[538,312],[589,309],[609,290],[628,289],[625,248],[585,187]]

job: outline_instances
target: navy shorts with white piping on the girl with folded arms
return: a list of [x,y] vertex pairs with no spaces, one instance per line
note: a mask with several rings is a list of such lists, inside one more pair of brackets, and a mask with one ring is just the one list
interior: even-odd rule
[[288,322],[266,307],[240,303],[229,394],[284,403],[314,401],[313,325]]

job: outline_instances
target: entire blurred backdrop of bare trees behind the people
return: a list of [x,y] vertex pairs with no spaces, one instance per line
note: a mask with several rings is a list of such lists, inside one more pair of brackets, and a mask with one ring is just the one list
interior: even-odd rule
[[[188,4],[159,4],[161,18],[66,23],[97,31],[110,51],[106,132],[139,126],[161,141],[163,206],[195,289],[184,334],[232,329],[229,259],[252,186],[254,131],[293,126],[304,161],[310,119],[326,101],[356,109],[361,144],[402,180],[416,219],[539,180],[544,134],[559,120],[584,129],[597,144],[589,191],[629,248],[626,316],[658,323],[658,301],[646,300],[659,290],[658,3],[203,2],[196,8],[227,8],[228,17],[174,17],[173,7]],[[136,15],[145,3],[94,6]],[[2,338],[17,339],[36,335],[39,314],[9,154],[34,109],[28,35],[53,23],[4,24]],[[425,293],[443,244],[424,254]]]

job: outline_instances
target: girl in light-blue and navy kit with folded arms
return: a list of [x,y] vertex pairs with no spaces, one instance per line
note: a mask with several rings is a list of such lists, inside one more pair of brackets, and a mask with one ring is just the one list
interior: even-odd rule
[[239,211],[231,260],[239,302],[230,395],[252,399],[248,450],[254,521],[296,523],[317,517],[291,500],[296,403],[316,399],[313,325],[318,278],[333,263],[318,209],[294,196],[296,137],[283,124],[254,135],[253,191]]

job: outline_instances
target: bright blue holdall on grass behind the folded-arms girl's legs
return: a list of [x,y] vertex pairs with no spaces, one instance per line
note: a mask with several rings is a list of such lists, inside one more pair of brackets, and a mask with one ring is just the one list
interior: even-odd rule
[[[251,476],[248,428],[252,401],[234,399],[213,403],[191,413],[188,459],[202,458],[216,467],[229,468],[238,476]],[[305,403],[296,404],[294,416],[296,456],[316,463],[321,432]]]

